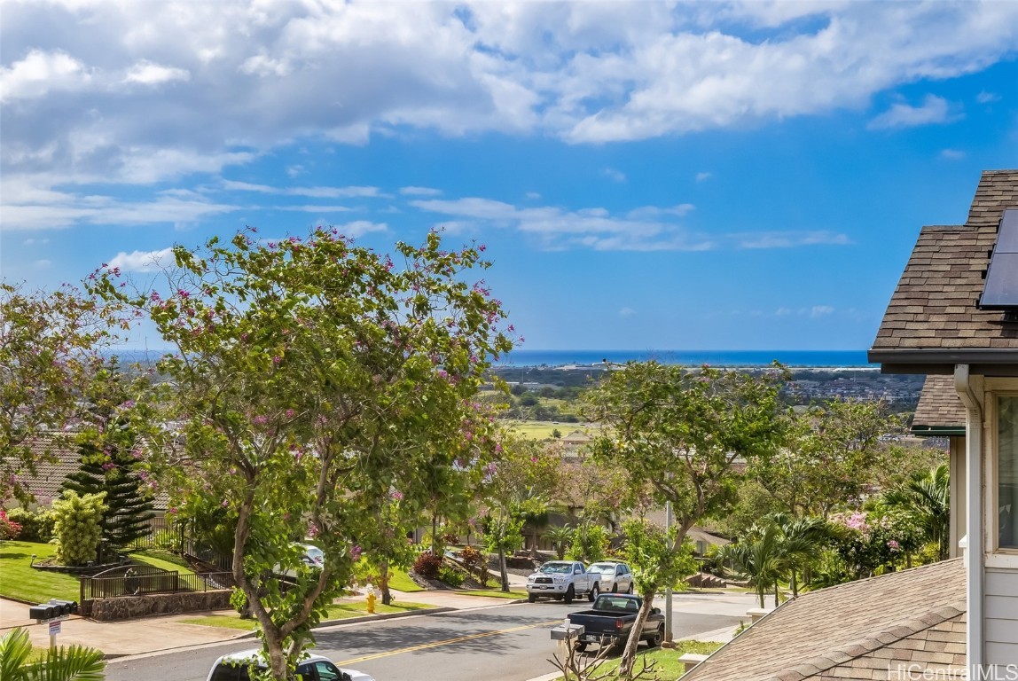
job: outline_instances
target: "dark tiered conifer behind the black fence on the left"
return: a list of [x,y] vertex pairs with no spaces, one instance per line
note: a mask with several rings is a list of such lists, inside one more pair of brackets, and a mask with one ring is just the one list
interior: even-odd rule
[[106,493],[102,538],[114,550],[145,536],[155,515],[153,483],[140,460],[154,414],[132,399],[142,399],[146,383],[122,373],[116,359],[96,373],[83,391],[88,406],[74,436],[80,465],[62,486],[78,495]]

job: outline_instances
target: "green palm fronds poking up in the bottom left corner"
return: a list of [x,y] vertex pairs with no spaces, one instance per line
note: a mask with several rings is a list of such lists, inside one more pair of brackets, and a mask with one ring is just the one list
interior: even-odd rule
[[0,638],[0,679],[4,681],[102,681],[106,661],[101,650],[83,645],[50,649],[39,662],[32,659],[29,632],[14,629]]

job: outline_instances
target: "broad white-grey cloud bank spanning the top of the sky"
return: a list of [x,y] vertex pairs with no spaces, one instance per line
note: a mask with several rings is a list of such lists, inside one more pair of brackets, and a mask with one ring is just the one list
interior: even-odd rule
[[[6,3],[0,161],[41,187],[136,184],[407,129],[744,127],[979,71],[1016,35],[1008,2]],[[929,105],[876,125],[943,118]]]

